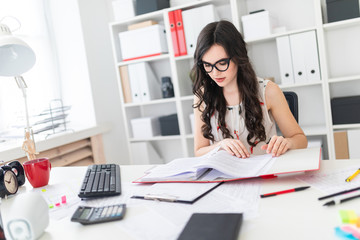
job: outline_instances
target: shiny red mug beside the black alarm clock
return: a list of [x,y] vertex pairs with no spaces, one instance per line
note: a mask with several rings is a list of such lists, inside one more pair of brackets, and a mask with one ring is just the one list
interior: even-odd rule
[[43,187],[49,183],[51,163],[48,158],[38,158],[23,163],[25,175],[34,187]]

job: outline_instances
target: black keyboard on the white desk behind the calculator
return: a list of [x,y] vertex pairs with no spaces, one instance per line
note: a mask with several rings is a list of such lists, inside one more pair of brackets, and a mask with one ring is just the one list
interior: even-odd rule
[[78,196],[80,198],[95,198],[120,194],[119,165],[97,164],[88,167]]

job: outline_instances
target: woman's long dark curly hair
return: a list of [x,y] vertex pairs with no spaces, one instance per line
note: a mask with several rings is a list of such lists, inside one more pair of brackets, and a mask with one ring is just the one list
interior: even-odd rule
[[222,87],[211,79],[201,64],[202,57],[214,44],[222,46],[228,57],[238,66],[237,85],[245,108],[245,126],[249,132],[247,142],[250,146],[256,146],[257,141],[266,139],[265,128],[262,124],[263,113],[258,98],[258,80],[247,55],[244,39],[231,22],[224,20],[209,23],[200,32],[194,54],[194,66],[191,70],[194,80],[193,93],[199,98],[193,108],[198,108],[202,112],[201,119],[205,123],[201,128],[203,136],[214,141],[210,118],[217,111],[218,124],[223,137],[233,138],[225,124],[226,100]]

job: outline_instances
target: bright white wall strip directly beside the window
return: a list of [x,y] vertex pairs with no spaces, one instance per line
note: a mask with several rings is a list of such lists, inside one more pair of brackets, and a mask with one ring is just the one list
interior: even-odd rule
[[[93,97],[89,81],[86,49],[81,29],[79,9],[73,0],[45,1],[50,14],[49,31],[54,59],[58,61],[58,77],[61,81],[61,96],[65,105],[71,105],[69,128],[81,130],[96,125]],[[64,14],[66,12],[66,14]],[[50,34],[51,35],[51,34]]]

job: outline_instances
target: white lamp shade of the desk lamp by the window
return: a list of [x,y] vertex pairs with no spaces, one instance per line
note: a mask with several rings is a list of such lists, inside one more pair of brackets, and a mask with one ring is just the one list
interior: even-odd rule
[[5,24],[0,24],[0,76],[19,76],[30,70],[35,61],[34,51],[14,37]]

